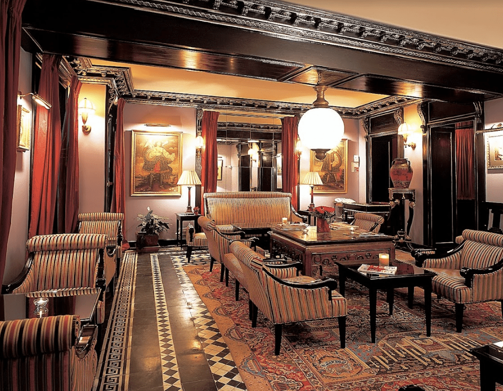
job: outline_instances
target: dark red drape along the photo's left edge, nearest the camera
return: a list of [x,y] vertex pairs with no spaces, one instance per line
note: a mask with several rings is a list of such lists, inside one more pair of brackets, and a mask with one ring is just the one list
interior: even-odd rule
[[21,48],[21,13],[26,0],[0,0],[0,283],[4,279],[16,173],[16,117]]

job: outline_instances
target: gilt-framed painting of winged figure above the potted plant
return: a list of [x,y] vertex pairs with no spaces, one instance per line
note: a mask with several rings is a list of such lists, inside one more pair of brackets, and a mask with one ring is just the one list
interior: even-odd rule
[[131,195],[182,195],[182,132],[132,130],[131,144]]

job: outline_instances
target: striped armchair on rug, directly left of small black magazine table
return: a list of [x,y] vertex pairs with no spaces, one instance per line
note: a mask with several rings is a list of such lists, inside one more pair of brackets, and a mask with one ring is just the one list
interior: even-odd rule
[[281,278],[273,265],[262,263],[260,255],[242,243],[230,245],[248,284],[251,326],[257,326],[258,309],[274,324],[274,354],[281,349],[282,325],[316,319],[338,318],[341,348],[346,347],[346,299],[335,290],[331,278],[315,280],[297,276]]

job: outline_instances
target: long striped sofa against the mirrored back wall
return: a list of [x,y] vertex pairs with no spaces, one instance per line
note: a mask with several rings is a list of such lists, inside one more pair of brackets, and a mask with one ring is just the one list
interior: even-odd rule
[[[281,223],[282,217],[289,221],[302,221],[292,212],[291,193],[237,191],[205,193],[206,215],[216,225],[239,222]],[[225,228],[225,229],[228,229]]]

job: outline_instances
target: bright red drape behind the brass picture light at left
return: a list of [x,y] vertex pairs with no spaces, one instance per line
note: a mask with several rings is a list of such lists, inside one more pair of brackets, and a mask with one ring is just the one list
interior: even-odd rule
[[50,110],[37,107],[33,143],[32,196],[29,237],[53,233],[61,151],[58,66],[61,56],[44,54],[38,94]]

